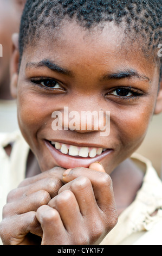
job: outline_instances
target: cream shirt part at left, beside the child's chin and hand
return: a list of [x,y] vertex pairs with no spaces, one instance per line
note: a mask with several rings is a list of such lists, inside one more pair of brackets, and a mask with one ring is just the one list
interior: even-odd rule
[[[8,144],[12,145],[10,157],[4,150]],[[0,221],[8,193],[25,178],[28,154],[29,146],[20,131],[0,133]]]

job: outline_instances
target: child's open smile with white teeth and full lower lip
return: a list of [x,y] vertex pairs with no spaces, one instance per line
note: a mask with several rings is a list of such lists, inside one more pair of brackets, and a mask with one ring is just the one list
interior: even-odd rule
[[113,150],[94,147],[76,147],[60,142],[46,141],[45,144],[58,166],[63,168],[85,167],[95,161],[101,161]]

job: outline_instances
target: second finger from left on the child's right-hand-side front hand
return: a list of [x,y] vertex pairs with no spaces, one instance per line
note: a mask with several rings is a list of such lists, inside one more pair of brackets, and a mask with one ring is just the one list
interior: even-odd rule
[[76,223],[82,219],[80,208],[72,191],[65,190],[50,200],[48,205],[56,209],[68,232],[76,229]]

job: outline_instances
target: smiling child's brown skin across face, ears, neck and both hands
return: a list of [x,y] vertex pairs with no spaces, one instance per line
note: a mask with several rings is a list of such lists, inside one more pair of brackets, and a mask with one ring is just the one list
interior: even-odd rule
[[[152,115],[162,111],[162,88],[158,94],[158,66],[148,64],[137,45],[130,51],[129,44],[120,47],[124,36],[121,28],[112,23],[106,24],[102,32],[96,29],[94,34],[68,23],[54,42],[41,39],[36,51],[26,48],[19,74],[15,47],[12,95],[18,101],[20,129],[36,158],[30,155],[34,164],[28,165],[30,178],[9,193],[4,207],[0,230],[5,245],[33,244],[29,233],[40,236],[42,245],[99,244],[115,226],[118,215],[133,202],[143,174],[129,156],[144,139]],[[120,51],[116,51],[114,42]],[[43,59],[50,59],[69,72],[62,74],[37,66]],[[110,78],[130,69],[136,70],[138,76]],[[41,87],[33,82],[35,77],[57,83],[44,90],[42,81]],[[116,95],[119,87],[132,88],[127,99]],[[134,92],[140,95],[135,97]],[[51,113],[62,111],[64,106],[69,106],[70,111],[110,111],[110,135],[101,137],[99,129],[54,132]],[[102,166],[91,163],[89,168],[57,167],[57,159],[44,140],[60,142],[62,138],[67,144],[111,150],[102,157]]]

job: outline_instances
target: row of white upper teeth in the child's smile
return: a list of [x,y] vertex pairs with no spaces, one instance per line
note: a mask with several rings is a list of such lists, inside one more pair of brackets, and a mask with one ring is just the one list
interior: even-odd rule
[[59,142],[51,142],[52,145],[62,154],[69,154],[70,156],[81,156],[81,157],[95,157],[96,155],[101,155],[106,149],[102,148],[88,148],[88,147],[75,147],[73,145],[62,144]]

